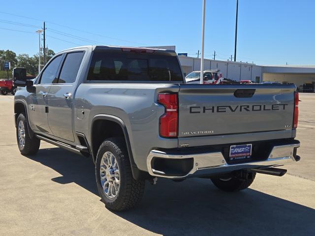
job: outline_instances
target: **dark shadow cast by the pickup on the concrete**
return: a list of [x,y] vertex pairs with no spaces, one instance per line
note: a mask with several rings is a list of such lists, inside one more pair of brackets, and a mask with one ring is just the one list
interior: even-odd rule
[[[94,164],[89,158],[61,148],[46,148],[40,149],[32,160],[63,175],[53,181],[74,182],[98,195]],[[314,209],[252,189],[225,193],[209,179],[158,179],[157,185],[146,182],[143,200],[135,209],[114,213],[164,236],[315,233]]]

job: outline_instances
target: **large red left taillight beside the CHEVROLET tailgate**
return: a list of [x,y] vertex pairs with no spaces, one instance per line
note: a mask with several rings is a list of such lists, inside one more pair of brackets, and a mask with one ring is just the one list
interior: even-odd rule
[[159,93],[158,103],[165,107],[164,115],[159,118],[159,135],[163,138],[177,137],[177,93]]

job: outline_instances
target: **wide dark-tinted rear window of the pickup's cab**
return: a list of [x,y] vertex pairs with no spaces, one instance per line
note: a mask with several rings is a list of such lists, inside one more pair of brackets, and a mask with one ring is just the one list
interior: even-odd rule
[[183,77],[175,56],[96,51],[92,57],[88,80],[183,82]]

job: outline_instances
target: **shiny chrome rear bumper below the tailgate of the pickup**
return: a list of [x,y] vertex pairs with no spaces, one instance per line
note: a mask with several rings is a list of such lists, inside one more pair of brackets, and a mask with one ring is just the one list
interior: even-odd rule
[[[267,159],[262,161],[252,161],[239,164],[226,163],[221,152],[205,152],[189,155],[177,155],[169,154],[164,151],[152,150],[147,157],[147,167],[151,176],[165,178],[186,178],[196,174],[212,175],[223,174],[242,169],[277,167],[297,162],[298,158],[294,157],[294,149],[299,147],[299,143],[275,146],[272,148]],[[193,166],[191,170],[184,175],[168,174],[160,170],[155,170],[152,167],[154,158],[165,158],[168,160],[184,160],[192,158]]]

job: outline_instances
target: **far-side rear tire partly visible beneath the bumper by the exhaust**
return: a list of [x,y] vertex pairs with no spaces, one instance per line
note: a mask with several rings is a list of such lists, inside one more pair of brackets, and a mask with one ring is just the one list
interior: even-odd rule
[[236,192],[243,189],[248,188],[251,186],[252,182],[254,181],[256,173],[252,173],[252,178],[250,179],[242,179],[240,177],[231,177],[228,179],[222,179],[219,177],[211,178],[211,181],[214,185],[226,192]]

